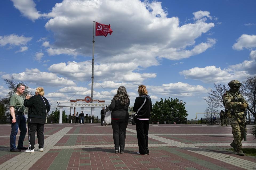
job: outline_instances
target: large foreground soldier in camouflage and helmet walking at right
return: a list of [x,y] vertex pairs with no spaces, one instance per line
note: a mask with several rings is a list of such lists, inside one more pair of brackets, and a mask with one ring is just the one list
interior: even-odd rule
[[240,156],[245,156],[242,151],[242,140],[247,129],[245,126],[244,111],[248,107],[248,103],[245,98],[240,94],[239,88],[242,85],[238,80],[231,80],[229,82],[230,90],[223,94],[223,104],[225,105],[225,113],[229,118],[230,125],[232,127],[234,140],[230,144]]

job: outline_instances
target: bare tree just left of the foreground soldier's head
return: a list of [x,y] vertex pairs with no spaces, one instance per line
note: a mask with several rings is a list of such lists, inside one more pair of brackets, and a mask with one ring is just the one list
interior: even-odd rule
[[214,88],[209,87],[210,92],[208,92],[207,97],[204,99],[210,108],[224,108],[222,95],[229,90],[227,84],[221,85],[214,83]]

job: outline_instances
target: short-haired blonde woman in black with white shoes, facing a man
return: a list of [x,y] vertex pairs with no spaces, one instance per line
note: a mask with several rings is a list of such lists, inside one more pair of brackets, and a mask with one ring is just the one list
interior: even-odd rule
[[46,114],[50,111],[48,100],[43,97],[45,94],[42,87],[35,90],[35,96],[26,95],[24,106],[29,108],[27,115],[27,129],[29,131],[29,148],[26,153],[34,153],[35,131],[37,131],[38,150],[43,151],[44,136],[43,128],[45,125]]

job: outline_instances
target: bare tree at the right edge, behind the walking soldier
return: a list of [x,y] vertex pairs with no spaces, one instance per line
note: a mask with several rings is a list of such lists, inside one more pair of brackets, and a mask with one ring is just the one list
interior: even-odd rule
[[256,76],[246,77],[243,82],[243,94],[249,103],[248,110],[256,117]]

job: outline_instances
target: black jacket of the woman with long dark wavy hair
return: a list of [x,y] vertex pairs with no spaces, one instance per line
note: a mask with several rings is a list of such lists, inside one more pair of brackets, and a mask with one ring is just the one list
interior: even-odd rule
[[109,110],[111,112],[111,118],[114,119],[128,119],[129,113],[128,113],[128,107],[130,105],[130,99],[129,102],[126,105],[122,105],[119,100],[112,100],[111,104],[109,106]]

